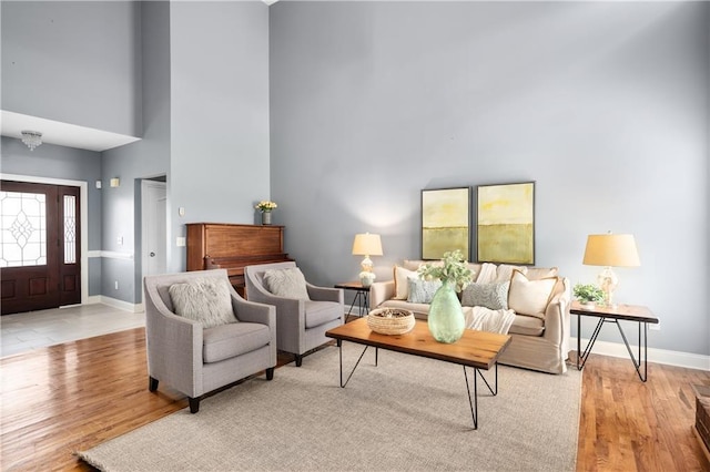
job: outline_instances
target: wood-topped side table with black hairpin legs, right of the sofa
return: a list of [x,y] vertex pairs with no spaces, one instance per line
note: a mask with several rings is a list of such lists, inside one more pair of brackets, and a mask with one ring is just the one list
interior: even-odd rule
[[[599,331],[605,322],[613,322],[619,328],[619,332],[621,334],[621,338],[623,339],[623,343],[626,345],[627,350],[629,351],[629,356],[631,357],[631,362],[633,362],[633,367],[636,368],[636,373],[639,374],[639,379],[642,382],[648,378],[648,324],[657,325],[659,322],[658,318],[646,307],[639,305],[617,305],[613,307],[586,307],[581,305],[579,301],[572,301],[572,305],[569,309],[569,312],[572,315],[577,315],[577,369],[581,370],[585,367],[585,362],[587,362],[587,358],[591,353],[591,348],[595,346],[595,341],[599,336]],[[581,351],[581,317],[590,316],[599,318],[597,322],[597,327],[595,328],[585,351]],[[631,350],[631,346],[629,346],[629,341],[626,338],[626,334],[623,329],[621,329],[621,325],[619,320],[626,321],[636,321],[639,324],[639,357],[638,359],[633,356],[633,351]],[[641,343],[643,345],[643,373],[641,373]]]

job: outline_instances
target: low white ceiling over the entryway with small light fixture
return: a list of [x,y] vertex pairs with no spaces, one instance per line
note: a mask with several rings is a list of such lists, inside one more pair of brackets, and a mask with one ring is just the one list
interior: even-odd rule
[[21,132],[24,130],[39,131],[42,133],[43,143],[98,152],[122,146],[140,140],[135,136],[110,133],[92,127],[61,123],[53,120],[23,115],[4,110],[0,115],[0,129],[3,136],[17,138],[22,138]]

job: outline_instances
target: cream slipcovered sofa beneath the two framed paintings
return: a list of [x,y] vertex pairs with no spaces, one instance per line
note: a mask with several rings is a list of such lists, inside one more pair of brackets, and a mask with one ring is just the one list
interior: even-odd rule
[[[409,278],[416,277],[416,269],[426,263],[430,261],[405,260],[402,266],[394,267],[392,280],[374,283],[369,291],[371,309],[381,307],[406,308],[412,310],[415,317],[426,319],[429,305],[413,302],[408,290],[403,287],[403,284],[406,284]],[[509,366],[549,373],[566,372],[566,361],[569,353],[569,306],[571,300],[569,280],[565,277],[558,277],[556,267],[541,268],[505,264],[498,266],[469,264],[469,267],[474,273],[474,280],[477,285],[471,288],[483,288],[483,284],[491,286],[509,281],[515,284],[516,294],[520,294],[521,291],[518,287],[520,287],[519,284],[526,284],[525,280],[532,281],[530,286],[539,285],[536,280],[546,280],[545,284],[548,286],[554,284],[546,304],[541,305],[540,312],[523,314],[516,311],[515,320],[508,331],[513,339],[501,353],[499,361]],[[514,274],[516,274],[516,278],[513,281]],[[525,275],[525,277],[521,277],[520,274]],[[552,278],[555,281],[550,280]],[[503,287],[505,288],[505,285]],[[465,301],[466,298],[470,299],[470,297],[463,296],[462,300]],[[462,305],[464,305],[465,315],[467,310],[471,310],[470,306],[466,306],[464,302]]]

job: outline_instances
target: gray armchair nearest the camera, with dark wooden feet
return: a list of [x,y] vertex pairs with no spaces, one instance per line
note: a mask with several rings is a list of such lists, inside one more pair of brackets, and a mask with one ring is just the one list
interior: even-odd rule
[[[175,315],[170,287],[199,278],[227,280],[232,309],[240,322],[204,329],[201,322]],[[155,391],[159,381],[163,381],[186,394],[190,411],[196,413],[206,392],[262,370],[266,371],[267,380],[273,379],[276,367],[274,307],[240,297],[229,285],[225,269],[146,276],[143,290],[150,391]]]

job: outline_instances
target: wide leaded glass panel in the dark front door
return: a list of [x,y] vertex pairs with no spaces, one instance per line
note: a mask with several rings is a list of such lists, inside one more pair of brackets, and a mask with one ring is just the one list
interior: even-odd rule
[[44,194],[0,192],[0,267],[47,265]]

